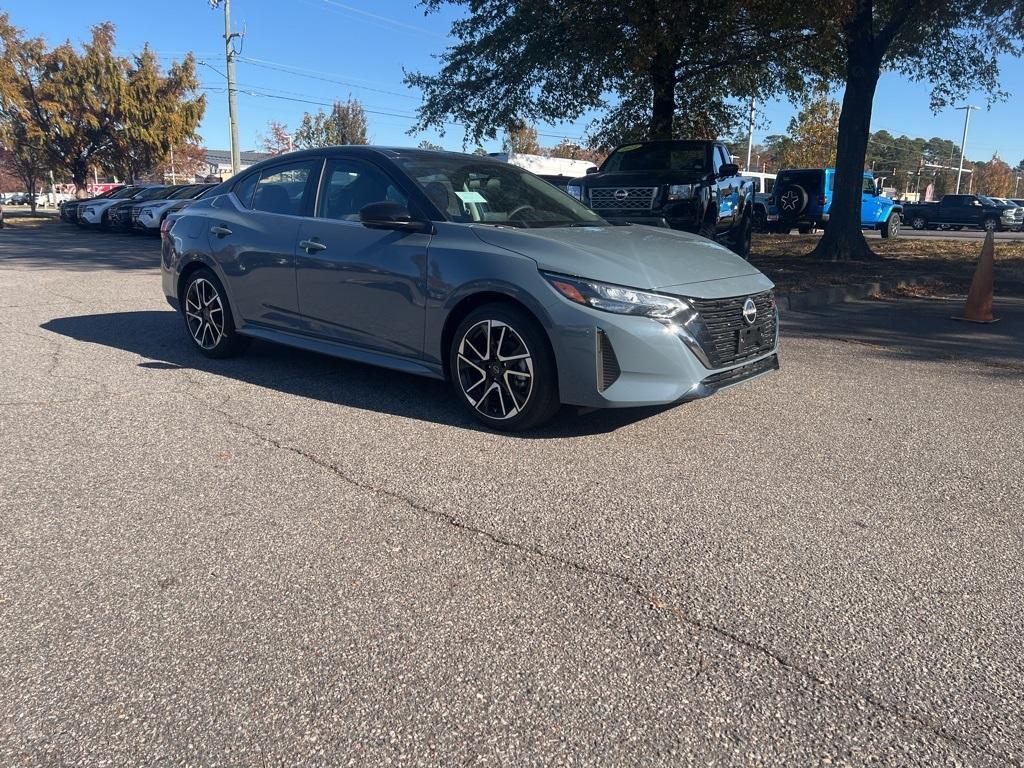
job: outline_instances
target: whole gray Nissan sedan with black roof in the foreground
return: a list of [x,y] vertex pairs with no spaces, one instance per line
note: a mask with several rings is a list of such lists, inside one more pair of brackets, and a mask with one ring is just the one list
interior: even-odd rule
[[611,225],[488,158],[282,155],[163,236],[164,293],[203,354],[258,338],[446,378],[496,429],[778,369],[773,286],[750,263],[693,234]]

